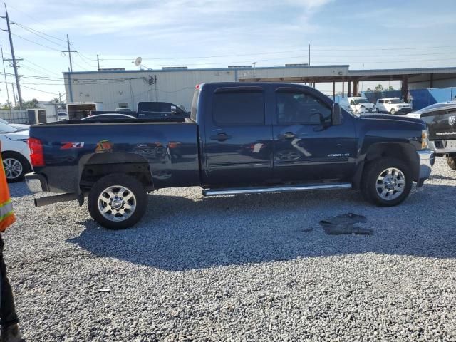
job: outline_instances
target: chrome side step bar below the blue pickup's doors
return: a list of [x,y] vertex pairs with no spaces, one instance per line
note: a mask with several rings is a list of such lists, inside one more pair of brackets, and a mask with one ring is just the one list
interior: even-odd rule
[[290,192],[304,190],[338,190],[351,189],[351,183],[321,183],[321,184],[303,184],[274,187],[237,187],[228,189],[203,189],[204,196],[222,196],[222,195],[242,195],[242,194],[261,194],[263,192]]

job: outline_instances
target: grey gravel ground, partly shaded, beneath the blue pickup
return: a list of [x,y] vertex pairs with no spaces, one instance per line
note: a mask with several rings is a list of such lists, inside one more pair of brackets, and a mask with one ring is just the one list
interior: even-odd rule
[[[150,195],[133,229],[11,185],[6,263],[27,341],[456,341],[456,172],[399,207],[352,191]],[[354,212],[371,236],[327,235]],[[100,291],[102,290],[103,291]]]

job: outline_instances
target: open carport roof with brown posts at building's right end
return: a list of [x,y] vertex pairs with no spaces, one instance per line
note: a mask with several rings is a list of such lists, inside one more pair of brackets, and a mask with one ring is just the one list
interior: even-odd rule
[[[336,83],[342,83],[342,96],[345,95],[347,84],[348,96],[358,96],[359,83],[366,81],[400,81],[403,100],[408,100],[408,90],[418,88],[443,88],[456,86],[456,67],[449,68],[405,68],[405,69],[371,69],[349,70],[348,66],[307,66],[309,75],[301,76],[269,76],[256,78],[239,77],[239,82],[292,82],[309,83],[315,87],[316,83],[333,83],[333,99],[336,98]],[[330,71],[329,75],[312,75],[311,68]],[[299,69],[300,71],[303,68]],[[257,71],[261,73],[261,71]]]

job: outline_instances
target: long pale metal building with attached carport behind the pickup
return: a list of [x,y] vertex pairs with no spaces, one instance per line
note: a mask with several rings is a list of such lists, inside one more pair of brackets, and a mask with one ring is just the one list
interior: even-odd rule
[[[100,70],[63,73],[68,102],[103,103],[103,110],[136,109],[139,101],[165,101],[190,110],[195,85],[204,82],[274,81],[341,83],[349,94],[358,94],[360,81],[400,80],[408,88],[456,86],[456,68],[350,70],[349,66],[283,67],[229,66],[228,68],[160,70]],[[345,88],[346,87],[346,88]]]

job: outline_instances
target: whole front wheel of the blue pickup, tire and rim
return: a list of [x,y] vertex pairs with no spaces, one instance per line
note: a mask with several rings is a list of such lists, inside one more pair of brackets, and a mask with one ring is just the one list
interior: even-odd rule
[[393,207],[403,202],[412,189],[410,167],[393,157],[373,160],[363,172],[363,196],[378,207]]

